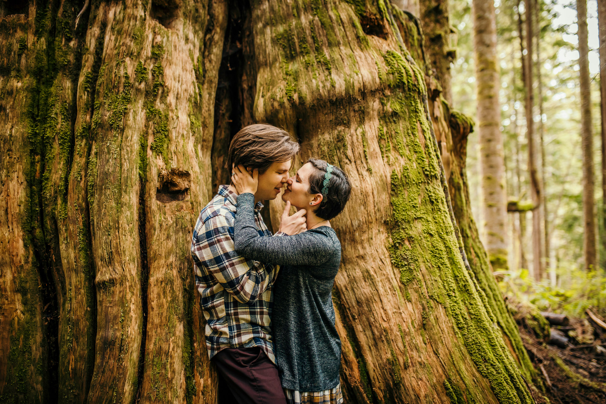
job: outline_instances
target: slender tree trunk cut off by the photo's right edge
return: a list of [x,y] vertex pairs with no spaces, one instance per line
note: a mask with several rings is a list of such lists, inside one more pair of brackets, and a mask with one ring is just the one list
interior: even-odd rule
[[602,123],[602,268],[606,268],[606,0],[598,0],[600,55],[600,116]]

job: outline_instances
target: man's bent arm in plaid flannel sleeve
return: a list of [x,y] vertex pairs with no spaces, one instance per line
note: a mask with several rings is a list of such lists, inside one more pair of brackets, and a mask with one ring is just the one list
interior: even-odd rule
[[240,303],[254,303],[274,280],[273,266],[255,265],[235,251],[233,226],[223,215],[208,219],[194,232],[191,256]]

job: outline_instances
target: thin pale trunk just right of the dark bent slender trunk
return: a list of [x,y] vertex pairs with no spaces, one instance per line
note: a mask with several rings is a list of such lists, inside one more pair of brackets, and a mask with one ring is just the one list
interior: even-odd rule
[[541,145],[541,212],[540,216],[542,218],[543,225],[543,261],[541,263],[544,271],[547,269],[550,270],[550,278],[551,278],[551,266],[549,263],[550,257],[550,246],[549,246],[549,221],[548,210],[547,210],[547,190],[545,188],[545,178],[546,178],[546,163],[545,163],[545,123],[543,122],[543,82],[541,78],[541,50],[539,45],[541,44],[541,0],[534,1],[534,38],[535,38],[535,46],[536,46],[536,80],[537,80],[537,95],[539,98],[539,116],[541,116],[541,121],[539,121],[539,143]]

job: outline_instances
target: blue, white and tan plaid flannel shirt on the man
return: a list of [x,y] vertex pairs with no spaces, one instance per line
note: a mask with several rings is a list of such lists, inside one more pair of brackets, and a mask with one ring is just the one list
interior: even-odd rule
[[[260,346],[275,361],[270,316],[271,286],[278,266],[247,260],[234,251],[235,192],[227,185],[200,212],[191,240],[196,289],[206,318],[206,346],[212,359],[221,349]],[[255,206],[259,235],[271,236]],[[281,234],[276,234],[281,235]]]

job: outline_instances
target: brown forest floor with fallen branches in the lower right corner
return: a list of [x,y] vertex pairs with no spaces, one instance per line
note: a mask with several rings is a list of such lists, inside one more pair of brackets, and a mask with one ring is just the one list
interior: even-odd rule
[[[549,403],[606,404],[606,329],[591,318],[568,318],[567,325],[551,325],[541,335],[532,317],[519,312],[514,317]],[[554,334],[561,335],[559,346],[552,345]],[[537,403],[547,403],[541,394],[534,396]]]

